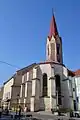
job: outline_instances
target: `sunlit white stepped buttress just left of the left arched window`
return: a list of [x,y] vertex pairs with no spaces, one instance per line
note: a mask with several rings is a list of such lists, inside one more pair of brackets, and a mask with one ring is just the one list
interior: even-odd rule
[[32,78],[32,97],[31,97],[31,111],[37,111],[40,108],[40,79],[38,78],[38,66],[33,68]]

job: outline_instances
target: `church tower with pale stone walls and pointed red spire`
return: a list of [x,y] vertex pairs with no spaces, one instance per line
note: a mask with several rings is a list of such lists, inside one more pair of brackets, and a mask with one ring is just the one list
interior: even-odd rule
[[47,37],[46,44],[46,58],[47,61],[63,63],[62,57],[62,40],[59,36],[54,15],[52,16],[50,24],[50,32]]

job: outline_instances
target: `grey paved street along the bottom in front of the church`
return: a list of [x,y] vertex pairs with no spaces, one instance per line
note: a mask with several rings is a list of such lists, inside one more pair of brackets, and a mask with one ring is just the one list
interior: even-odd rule
[[0,120],[80,120],[80,118],[69,118],[67,116],[54,116],[53,114],[32,113],[32,117],[11,118],[11,116],[2,116]]

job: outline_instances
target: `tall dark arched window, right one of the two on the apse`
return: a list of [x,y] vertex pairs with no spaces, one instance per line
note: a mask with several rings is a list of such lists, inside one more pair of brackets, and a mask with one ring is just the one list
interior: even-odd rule
[[55,75],[55,82],[56,82],[56,95],[57,95],[57,104],[61,105],[61,83],[60,83],[60,76]]

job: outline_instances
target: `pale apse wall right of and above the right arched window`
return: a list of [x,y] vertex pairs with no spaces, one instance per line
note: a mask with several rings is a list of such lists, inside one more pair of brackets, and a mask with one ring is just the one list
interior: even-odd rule
[[68,80],[68,70],[66,67],[54,64],[55,75],[60,75],[62,107],[73,108],[71,86]]

